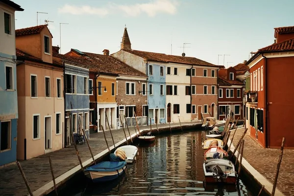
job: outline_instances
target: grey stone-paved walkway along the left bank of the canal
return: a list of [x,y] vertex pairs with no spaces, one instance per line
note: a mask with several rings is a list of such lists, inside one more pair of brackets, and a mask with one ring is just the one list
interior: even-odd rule
[[[195,123],[181,123],[182,126],[191,126]],[[171,127],[179,127],[179,123],[172,123]],[[158,124],[158,128],[167,128],[169,124]],[[150,126],[140,126],[140,130],[149,129]],[[155,125],[152,125],[152,129],[156,129]],[[128,136],[127,129],[125,131]],[[135,133],[133,127],[130,127],[131,135]],[[138,130],[137,130],[138,133]],[[114,142],[118,143],[125,140],[123,129],[112,130]],[[113,145],[111,135],[109,131],[105,132],[107,142],[109,146]],[[94,156],[103,150],[105,150],[106,143],[102,132],[94,133],[90,135],[90,145]],[[78,151],[82,162],[91,158],[91,154],[87,144],[78,145]],[[38,156],[26,161],[20,161],[22,168],[25,172],[25,176],[28,180],[28,184],[31,190],[34,192],[40,187],[46,185],[52,180],[50,167],[49,167],[49,156],[51,157],[52,167],[55,178],[61,174],[73,169],[79,165],[78,158],[75,153],[74,146],[63,148],[54,152],[50,152],[45,155]],[[0,169],[0,196],[26,196],[28,191],[25,186],[23,177],[17,167],[17,165],[11,165]]]

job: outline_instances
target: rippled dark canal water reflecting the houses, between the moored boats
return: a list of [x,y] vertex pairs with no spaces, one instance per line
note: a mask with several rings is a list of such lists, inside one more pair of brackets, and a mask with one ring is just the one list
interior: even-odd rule
[[93,184],[81,175],[62,195],[252,196],[242,180],[237,186],[203,183],[204,139],[205,131],[160,134],[152,144],[138,144],[137,161],[117,180]]

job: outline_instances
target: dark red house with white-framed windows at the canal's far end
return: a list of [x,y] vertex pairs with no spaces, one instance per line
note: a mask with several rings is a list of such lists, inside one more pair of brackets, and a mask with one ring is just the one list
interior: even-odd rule
[[[243,118],[243,82],[237,79],[236,70],[232,67],[219,70],[219,120],[226,119],[233,113],[233,119]],[[232,113],[231,113],[232,112]]]

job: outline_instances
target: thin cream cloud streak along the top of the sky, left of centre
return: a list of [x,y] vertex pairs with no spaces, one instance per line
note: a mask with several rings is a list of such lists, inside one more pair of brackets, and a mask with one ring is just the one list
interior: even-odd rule
[[142,13],[147,14],[149,17],[154,17],[156,14],[175,14],[176,6],[178,1],[176,0],[152,0],[147,3],[136,3],[133,5],[123,4],[108,4],[105,7],[91,7],[84,5],[82,7],[66,4],[61,8],[58,8],[60,13],[68,13],[73,15],[99,15],[106,16],[109,14],[117,13],[118,11],[123,12],[127,16],[135,17]]

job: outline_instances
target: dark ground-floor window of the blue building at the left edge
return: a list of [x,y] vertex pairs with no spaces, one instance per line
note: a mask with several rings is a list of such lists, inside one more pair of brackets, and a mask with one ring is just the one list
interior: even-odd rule
[[11,121],[1,122],[0,151],[11,148]]

